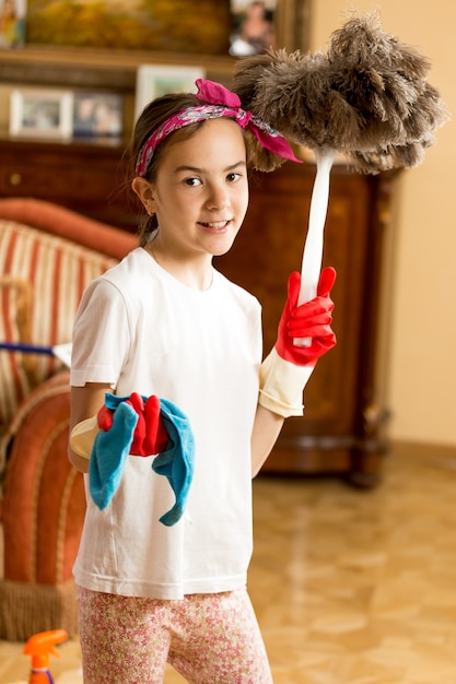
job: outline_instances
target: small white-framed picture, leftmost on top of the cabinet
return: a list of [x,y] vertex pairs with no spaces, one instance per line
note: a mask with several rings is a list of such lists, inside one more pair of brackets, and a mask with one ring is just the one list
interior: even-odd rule
[[73,93],[42,89],[14,90],[10,103],[10,135],[71,138]]

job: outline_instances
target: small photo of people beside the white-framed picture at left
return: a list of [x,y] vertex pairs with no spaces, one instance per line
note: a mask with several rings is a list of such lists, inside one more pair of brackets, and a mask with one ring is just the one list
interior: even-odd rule
[[116,93],[74,93],[73,137],[120,138],[124,98]]

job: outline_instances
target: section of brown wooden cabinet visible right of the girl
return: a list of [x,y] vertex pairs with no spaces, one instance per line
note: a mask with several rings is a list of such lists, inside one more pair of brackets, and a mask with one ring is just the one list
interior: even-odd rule
[[[287,163],[253,179],[243,229],[218,260],[262,304],[265,355],[276,341],[289,273],[301,269],[314,178],[314,164]],[[394,184],[394,176],[362,176],[341,165],[331,172],[324,266],[337,270],[338,344],[319,359],[304,393],[304,416],[285,421],[265,471],[339,473],[359,486],[379,477],[387,417],[379,381],[386,322],[381,325],[381,294]]]

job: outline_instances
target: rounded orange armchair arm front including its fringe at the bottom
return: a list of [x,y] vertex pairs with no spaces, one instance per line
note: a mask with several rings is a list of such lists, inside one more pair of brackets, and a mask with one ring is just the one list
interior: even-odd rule
[[10,427],[3,502],[0,638],[78,632],[74,563],[85,514],[83,477],[67,457],[68,372],[43,382]]

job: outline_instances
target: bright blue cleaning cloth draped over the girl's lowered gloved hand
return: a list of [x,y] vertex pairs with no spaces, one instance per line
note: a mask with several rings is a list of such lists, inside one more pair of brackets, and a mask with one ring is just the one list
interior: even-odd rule
[[[138,414],[126,403],[127,399],[129,397],[106,393],[105,404],[114,411],[113,426],[107,432],[101,429],[92,447],[89,487],[101,510],[106,508],[118,490],[133,441]],[[169,527],[180,520],[185,511],[195,469],[195,438],[188,417],[173,402],[161,399],[160,415],[169,441],[165,451],[152,461],[152,469],[167,477],[176,497],[173,508],[160,518],[163,524]]]

